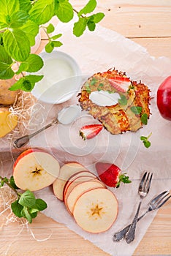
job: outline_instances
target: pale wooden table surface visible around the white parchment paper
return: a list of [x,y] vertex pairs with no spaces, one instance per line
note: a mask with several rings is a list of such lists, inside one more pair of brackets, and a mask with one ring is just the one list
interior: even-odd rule
[[[79,10],[87,1],[71,2]],[[99,0],[97,10],[105,13],[102,26],[144,46],[151,56],[171,59],[171,0]],[[46,42],[42,36],[39,50]],[[24,228],[18,236],[20,227],[12,223],[1,229],[0,255],[107,255],[43,214],[39,214],[30,227],[38,239],[46,238],[48,233],[52,235],[40,242]],[[171,200],[158,211],[134,255],[171,255]]]

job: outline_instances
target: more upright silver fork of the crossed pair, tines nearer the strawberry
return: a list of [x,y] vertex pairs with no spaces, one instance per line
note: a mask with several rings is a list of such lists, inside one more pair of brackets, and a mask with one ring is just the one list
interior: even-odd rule
[[142,176],[141,181],[140,181],[140,186],[139,186],[139,189],[138,189],[138,192],[139,192],[139,195],[140,195],[140,203],[138,205],[137,212],[134,216],[132,224],[129,227],[129,230],[126,233],[126,236],[125,236],[127,244],[130,244],[132,241],[134,241],[134,233],[135,233],[135,229],[136,229],[136,226],[137,226],[137,219],[138,219],[138,214],[139,214],[139,211],[140,211],[142,199],[146,195],[148,195],[149,189],[151,187],[152,176],[153,176],[153,173],[145,172],[144,175]]

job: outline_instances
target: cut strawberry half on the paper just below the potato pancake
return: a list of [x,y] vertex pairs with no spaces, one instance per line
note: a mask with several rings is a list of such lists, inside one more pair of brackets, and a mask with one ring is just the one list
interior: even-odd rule
[[88,124],[80,129],[80,136],[83,140],[94,138],[102,130],[102,124]]

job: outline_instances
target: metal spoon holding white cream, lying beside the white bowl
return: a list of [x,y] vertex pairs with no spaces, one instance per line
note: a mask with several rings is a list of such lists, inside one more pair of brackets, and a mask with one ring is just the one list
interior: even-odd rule
[[61,123],[61,124],[70,124],[72,121],[75,120],[75,118],[80,114],[81,108],[78,105],[72,105],[66,108],[63,108],[59,113],[58,117],[54,118],[53,121],[51,121],[50,124],[47,124],[45,127],[42,127],[37,132],[32,133],[31,135],[25,135],[23,137],[18,138],[14,141],[14,147],[15,148],[21,148],[22,146],[25,146],[31,138],[33,138],[35,135],[39,134],[39,132],[44,131],[45,129],[52,127],[55,124]]

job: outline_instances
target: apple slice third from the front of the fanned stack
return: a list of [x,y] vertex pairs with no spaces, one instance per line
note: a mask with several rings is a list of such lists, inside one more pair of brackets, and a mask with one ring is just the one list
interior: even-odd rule
[[75,178],[73,181],[69,182],[69,185],[64,189],[64,203],[66,203],[67,196],[69,193],[72,191],[72,189],[77,186],[77,184],[82,184],[83,182],[86,181],[94,181],[96,180],[97,182],[101,183],[102,181],[99,181],[98,179],[94,178],[94,176],[80,176]]

